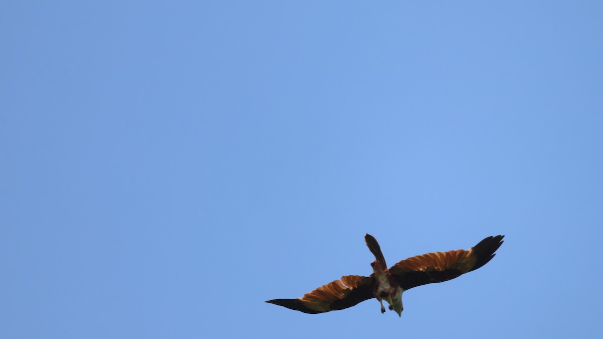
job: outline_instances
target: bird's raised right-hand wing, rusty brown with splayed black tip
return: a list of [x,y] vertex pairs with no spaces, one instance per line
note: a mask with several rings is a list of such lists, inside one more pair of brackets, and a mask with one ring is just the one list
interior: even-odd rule
[[454,279],[484,266],[494,258],[504,235],[488,236],[469,250],[434,252],[413,256],[393,265],[390,274],[403,290]]

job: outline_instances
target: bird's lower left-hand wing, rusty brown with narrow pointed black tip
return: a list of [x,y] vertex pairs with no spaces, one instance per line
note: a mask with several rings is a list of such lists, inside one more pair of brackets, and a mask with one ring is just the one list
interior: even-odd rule
[[301,298],[274,299],[267,303],[310,314],[335,311],[373,298],[373,284],[372,277],[343,276],[341,280],[323,285]]

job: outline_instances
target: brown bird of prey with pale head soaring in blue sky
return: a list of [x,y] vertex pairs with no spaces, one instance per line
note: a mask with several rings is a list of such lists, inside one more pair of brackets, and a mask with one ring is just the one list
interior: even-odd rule
[[504,235],[488,236],[469,250],[433,252],[412,256],[390,268],[385,264],[379,242],[366,234],[364,240],[375,260],[371,262],[370,276],[343,276],[297,299],[273,299],[267,303],[284,306],[295,311],[318,314],[350,308],[364,300],[376,298],[385,313],[383,300],[390,311],[402,317],[402,293],[413,287],[444,282],[461,274],[477,270],[496,255]]

